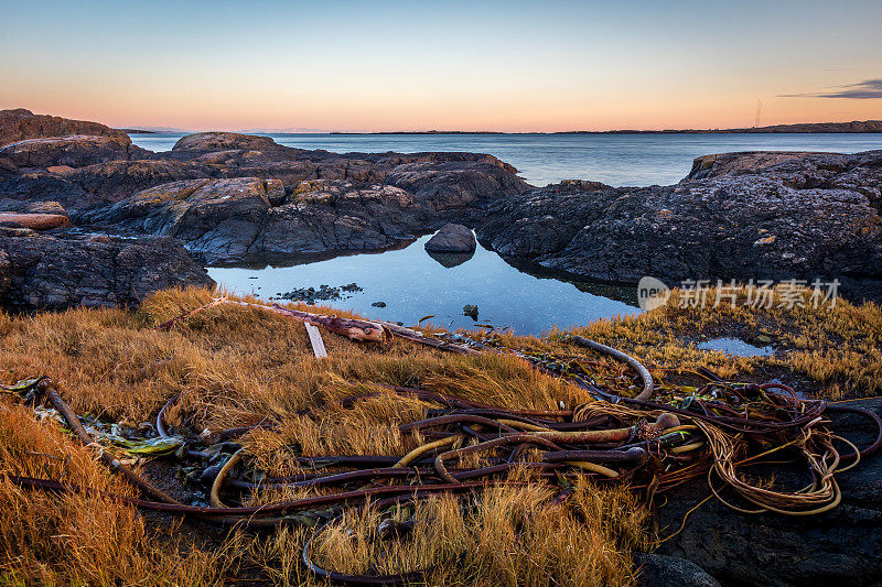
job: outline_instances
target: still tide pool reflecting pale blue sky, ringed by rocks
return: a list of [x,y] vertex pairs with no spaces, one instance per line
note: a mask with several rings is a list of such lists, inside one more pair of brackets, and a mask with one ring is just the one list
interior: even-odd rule
[[[478,244],[473,256],[430,257],[422,237],[399,250],[353,254],[283,267],[278,261],[252,260],[247,267],[208,269],[220,285],[238,294],[262,298],[301,287],[332,287],[357,283],[362,291],[345,300],[320,302],[353,309],[377,319],[416,324],[434,314],[434,325],[450,328],[476,324],[506,326],[518,334],[539,335],[550,328],[588,324],[615,315],[637,314],[632,286],[563,281],[520,271]],[[290,260],[288,261],[291,262]],[[241,265],[241,264],[240,264]],[[385,307],[373,304],[383,302]],[[477,305],[477,322],[463,306]]]

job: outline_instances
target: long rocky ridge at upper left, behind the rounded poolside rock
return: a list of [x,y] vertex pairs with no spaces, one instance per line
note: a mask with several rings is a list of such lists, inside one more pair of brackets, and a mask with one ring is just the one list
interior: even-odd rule
[[[3,116],[18,120],[6,111]],[[348,183],[353,189],[388,183],[443,213],[528,188],[514,167],[491,155],[335,154],[233,132],[191,134],[168,153],[151,153],[103,126],[95,134],[72,135],[68,130],[80,128],[76,123],[43,129],[65,131],[62,137],[47,137],[39,129],[14,133],[22,140],[0,150],[0,198],[54,199],[80,211],[171,182],[257,177],[279,181],[289,193],[302,182]],[[82,128],[86,132],[89,127]]]

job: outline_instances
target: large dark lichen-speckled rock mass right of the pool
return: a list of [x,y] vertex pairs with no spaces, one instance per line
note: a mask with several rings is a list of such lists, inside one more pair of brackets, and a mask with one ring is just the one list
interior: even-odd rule
[[732,157],[744,171],[718,155],[717,171],[710,164],[696,173],[703,178],[676,186],[557,184],[498,199],[478,238],[504,256],[612,281],[837,278],[869,292],[882,286],[882,151]]

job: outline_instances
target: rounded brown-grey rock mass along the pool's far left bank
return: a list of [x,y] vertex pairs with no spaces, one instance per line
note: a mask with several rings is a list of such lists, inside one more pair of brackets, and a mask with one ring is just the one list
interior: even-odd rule
[[250,253],[378,250],[415,238],[429,209],[404,189],[278,180],[194,180],[163,184],[80,221],[173,236],[209,260]]

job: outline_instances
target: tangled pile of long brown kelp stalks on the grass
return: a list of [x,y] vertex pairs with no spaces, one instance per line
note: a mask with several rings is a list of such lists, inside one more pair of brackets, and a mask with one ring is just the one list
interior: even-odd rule
[[[219,304],[212,307],[215,305]],[[282,314],[278,309],[275,313]],[[346,324],[344,331],[351,333],[353,327]],[[466,345],[487,352],[516,352],[535,360],[545,371],[558,371],[585,395],[579,402],[572,402],[578,395],[568,398],[569,409],[566,402],[557,410],[519,409],[471,398],[475,390],[465,389],[469,378],[437,376],[422,388],[342,381],[343,393],[336,403],[344,409],[369,406],[372,402],[376,406],[378,398],[400,399],[401,410],[387,415],[405,420],[395,428],[407,452],[309,454],[301,446],[301,454],[287,463],[289,474],[272,477],[260,470],[259,459],[249,463],[247,452],[230,441],[286,423],[270,418],[248,430],[214,431],[202,437],[195,430],[187,433],[182,428],[180,437],[172,437],[163,421],[165,411],[174,406],[172,401],[160,411],[155,424],[160,439],[152,445],[175,450],[176,457],[187,463],[190,478],[206,482],[209,507],[187,506],[170,498],[120,464],[109,447],[100,450],[101,458],[129,471],[127,477],[153,498],[148,501],[120,496],[122,501],[239,526],[309,524],[316,530],[302,555],[314,573],[351,583],[388,584],[419,580],[432,565],[455,566],[463,551],[435,548],[418,557],[426,563],[422,567],[401,569],[395,563],[405,557],[396,554],[396,548],[400,548],[405,534],[419,543],[420,536],[451,509],[461,515],[472,511],[470,515],[480,518],[480,512],[486,513],[484,504],[498,499],[494,491],[501,483],[540,486],[544,489],[537,503],[560,511],[570,502],[580,502],[585,482],[626,481],[627,487],[652,499],[689,479],[707,478],[711,491],[739,510],[805,515],[835,507],[840,499],[835,474],[857,465],[882,443],[878,438],[861,450],[833,434],[826,421],[830,412],[848,410],[871,418],[882,434],[882,423],[872,412],[799,399],[783,383],[723,380],[703,369],[692,373],[703,381],[699,385],[659,382],[636,360],[581,337],[567,341],[573,347],[587,346],[594,355],[540,356],[502,345],[495,345],[494,350],[486,337],[482,341],[460,337],[464,344],[455,347],[433,340],[433,347],[463,352]],[[458,385],[465,387],[458,390]],[[78,418],[47,379],[22,382],[14,391],[49,400],[76,431]],[[309,412],[303,416],[315,416]],[[85,428],[76,432],[85,443],[94,442]],[[842,447],[846,450],[840,455]],[[775,487],[770,479],[751,482],[744,475],[747,469],[778,466],[782,457],[796,459],[804,467],[810,479],[807,487]],[[18,476],[14,480],[32,488],[89,491],[52,479]],[[363,504],[367,508],[361,508]],[[355,540],[351,524],[375,528]],[[334,559],[327,556],[332,546],[337,552],[357,551],[370,564],[362,573],[325,568],[326,563],[316,562],[315,556]],[[345,559],[336,562],[357,566]],[[413,558],[408,562],[412,566]]]

